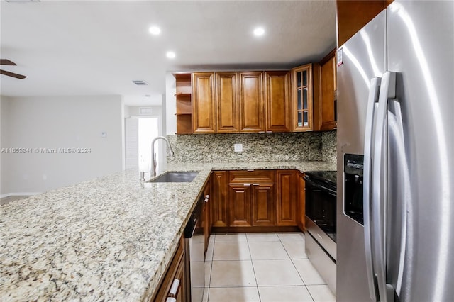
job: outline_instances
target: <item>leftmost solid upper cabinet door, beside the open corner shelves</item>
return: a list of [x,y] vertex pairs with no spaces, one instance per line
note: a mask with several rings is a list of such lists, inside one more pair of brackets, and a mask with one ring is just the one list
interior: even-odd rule
[[194,133],[215,132],[213,72],[192,74],[192,128]]

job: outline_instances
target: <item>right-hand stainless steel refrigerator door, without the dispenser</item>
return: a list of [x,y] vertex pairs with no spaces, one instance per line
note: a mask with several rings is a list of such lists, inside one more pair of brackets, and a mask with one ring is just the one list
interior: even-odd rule
[[454,1],[387,14],[387,282],[399,301],[454,301]]

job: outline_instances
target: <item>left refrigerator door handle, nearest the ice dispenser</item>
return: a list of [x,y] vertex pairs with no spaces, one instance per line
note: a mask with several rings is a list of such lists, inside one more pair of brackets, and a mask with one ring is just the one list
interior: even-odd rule
[[367,114],[365,122],[364,138],[364,174],[363,174],[363,213],[364,213],[364,239],[365,239],[365,257],[367,269],[367,282],[369,284],[369,294],[372,301],[378,301],[377,279],[375,278],[374,267],[372,264],[372,225],[370,223],[370,201],[372,191],[372,142],[374,140],[374,121],[375,111],[378,102],[380,77],[373,77],[370,80],[369,96],[367,97]]

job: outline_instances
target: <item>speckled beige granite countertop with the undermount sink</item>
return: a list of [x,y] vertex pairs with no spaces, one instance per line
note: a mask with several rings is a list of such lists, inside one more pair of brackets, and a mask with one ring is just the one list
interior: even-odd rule
[[[127,170],[1,206],[1,301],[148,301],[212,170],[335,170],[329,162],[167,164],[190,183]],[[147,174],[145,174],[147,175]]]

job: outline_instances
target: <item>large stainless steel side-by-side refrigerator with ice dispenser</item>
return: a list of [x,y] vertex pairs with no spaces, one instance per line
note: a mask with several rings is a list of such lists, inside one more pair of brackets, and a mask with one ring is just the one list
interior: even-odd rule
[[454,301],[454,1],[338,48],[338,301]]

